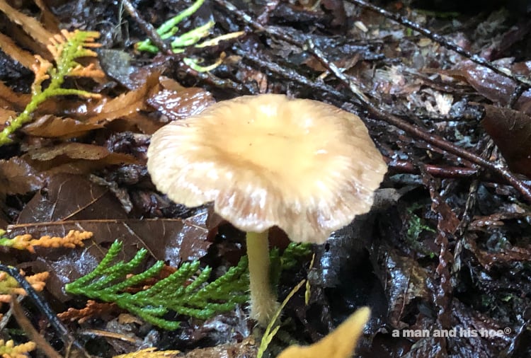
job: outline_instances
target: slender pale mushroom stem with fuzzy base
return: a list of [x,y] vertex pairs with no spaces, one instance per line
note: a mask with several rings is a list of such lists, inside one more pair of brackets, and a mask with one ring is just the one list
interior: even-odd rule
[[251,286],[251,318],[265,327],[278,309],[277,295],[271,290],[269,279],[268,230],[262,233],[248,232],[246,239]]

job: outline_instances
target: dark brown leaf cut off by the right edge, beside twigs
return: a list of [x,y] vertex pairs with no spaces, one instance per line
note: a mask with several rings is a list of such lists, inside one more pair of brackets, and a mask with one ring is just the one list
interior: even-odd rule
[[531,116],[518,110],[485,105],[481,125],[492,137],[510,170],[531,178]]

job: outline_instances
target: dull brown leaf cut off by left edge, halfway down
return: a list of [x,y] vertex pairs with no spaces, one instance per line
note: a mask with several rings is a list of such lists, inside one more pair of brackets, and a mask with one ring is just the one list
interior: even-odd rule
[[0,195],[39,190],[43,180],[35,168],[18,156],[0,160]]

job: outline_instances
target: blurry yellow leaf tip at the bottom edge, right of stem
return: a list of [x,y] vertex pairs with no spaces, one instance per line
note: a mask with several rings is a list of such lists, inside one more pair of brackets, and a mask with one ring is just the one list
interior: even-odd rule
[[370,308],[362,307],[319,342],[307,347],[292,345],[278,358],[349,358],[369,317]]

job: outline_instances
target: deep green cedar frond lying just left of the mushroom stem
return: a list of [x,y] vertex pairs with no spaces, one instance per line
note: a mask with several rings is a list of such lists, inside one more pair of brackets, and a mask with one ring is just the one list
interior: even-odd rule
[[91,299],[114,302],[120,308],[166,330],[176,330],[178,321],[164,318],[174,311],[185,316],[207,319],[217,312],[231,311],[236,304],[248,300],[249,289],[247,258],[241,258],[214,282],[207,283],[212,269],[200,270],[200,262],[185,262],[169,277],[161,279],[149,289],[135,294],[125,292],[146,279],[156,277],[164,267],[157,261],[152,267],[137,275],[130,275],[144,261],[147,250],[142,248],[129,262],[111,263],[122,250],[122,243],[115,241],[95,270],[66,285],[70,294],[84,294]]

